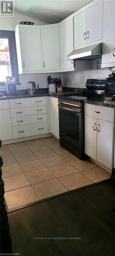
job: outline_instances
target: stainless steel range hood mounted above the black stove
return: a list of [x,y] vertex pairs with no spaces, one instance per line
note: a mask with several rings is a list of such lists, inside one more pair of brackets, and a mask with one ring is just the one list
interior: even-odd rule
[[102,55],[102,43],[86,46],[84,48],[74,50],[66,56],[66,60],[71,59],[98,59]]

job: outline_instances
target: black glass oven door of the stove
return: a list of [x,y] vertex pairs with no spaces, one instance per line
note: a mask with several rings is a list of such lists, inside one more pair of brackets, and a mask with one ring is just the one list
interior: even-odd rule
[[58,104],[58,107],[60,138],[79,148],[79,150],[83,150],[83,109],[64,104]]

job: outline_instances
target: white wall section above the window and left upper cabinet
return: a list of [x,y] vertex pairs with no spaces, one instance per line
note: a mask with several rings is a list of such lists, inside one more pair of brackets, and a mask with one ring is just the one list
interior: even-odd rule
[[45,25],[36,19],[14,12],[13,17],[0,17],[0,30],[14,30],[20,22],[34,22],[34,25]]

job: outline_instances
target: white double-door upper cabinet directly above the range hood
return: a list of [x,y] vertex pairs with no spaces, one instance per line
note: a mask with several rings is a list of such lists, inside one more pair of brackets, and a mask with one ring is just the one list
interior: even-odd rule
[[74,17],[74,48],[102,40],[103,1]]

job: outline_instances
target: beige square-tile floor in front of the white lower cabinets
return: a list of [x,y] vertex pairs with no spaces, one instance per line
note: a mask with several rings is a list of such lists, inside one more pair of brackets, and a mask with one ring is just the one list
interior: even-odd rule
[[54,137],[3,145],[1,156],[8,209],[110,177],[97,164],[67,152]]

